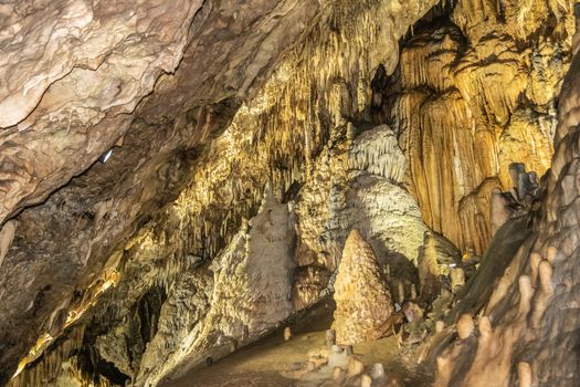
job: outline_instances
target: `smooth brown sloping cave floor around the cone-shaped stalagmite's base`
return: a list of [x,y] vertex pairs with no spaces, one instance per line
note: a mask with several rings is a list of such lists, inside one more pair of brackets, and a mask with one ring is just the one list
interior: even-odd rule
[[[330,327],[333,305],[326,304],[291,324],[293,337],[283,339],[283,327],[268,336],[214,362],[211,366],[197,367],[183,377],[168,380],[162,387],[190,386],[333,386],[330,374],[308,374],[299,380],[282,376],[304,367],[308,353],[325,347],[325,331]],[[375,363],[384,365],[389,384],[373,386],[418,386],[401,360],[401,353],[393,336],[355,345],[355,355],[366,367]],[[327,378],[324,378],[324,377]]]

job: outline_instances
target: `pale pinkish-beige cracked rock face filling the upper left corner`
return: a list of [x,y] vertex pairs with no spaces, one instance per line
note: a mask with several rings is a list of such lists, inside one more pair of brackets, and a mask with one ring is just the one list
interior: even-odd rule
[[[201,4],[2,6],[0,222],[44,200],[125,135],[158,77],[176,71]],[[20,160],[30,161],[22,168]]]

